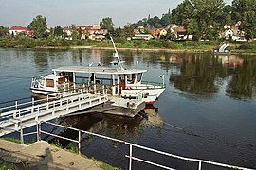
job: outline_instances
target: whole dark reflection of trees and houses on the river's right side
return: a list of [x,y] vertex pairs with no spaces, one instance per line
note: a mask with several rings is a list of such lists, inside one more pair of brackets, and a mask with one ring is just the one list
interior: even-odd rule
[[255,59],[191,54],[171,56],[169,63],[169,80],[181,91],[213,97],[219,93],[220,85],[228,84],[226,93],[230,97],[251,99],[255,96]]

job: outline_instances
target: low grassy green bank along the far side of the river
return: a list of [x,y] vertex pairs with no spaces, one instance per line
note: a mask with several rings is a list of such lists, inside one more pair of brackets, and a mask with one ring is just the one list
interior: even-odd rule
[[[164,40],[133,40],[117,42],[119,48],[128,49],[162,49],[162,50],[188,50],[188,51],[211,51],[220,42],[173,42]],[[65,40],[61,38],[48,39],[30,39],[20,37],[15,39],[0,39],[0,47],[4,48],[80,48],[86,46],[94,46],[99,48],[112,48],[111,42],[99,42],[92,40]],[[250,43],[231,43],[233,52],[256,53],[256,42]]]

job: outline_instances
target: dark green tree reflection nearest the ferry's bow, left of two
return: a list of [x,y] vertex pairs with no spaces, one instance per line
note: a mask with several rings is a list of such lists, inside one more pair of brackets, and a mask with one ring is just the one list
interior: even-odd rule
[[226,76],[224,68],[217,59],[204,56],[187,56],[172,59],[180,65],[179,74],[171,74],[170,81],[174,87],[190,93],[209,95],[217,93],[217,76]]

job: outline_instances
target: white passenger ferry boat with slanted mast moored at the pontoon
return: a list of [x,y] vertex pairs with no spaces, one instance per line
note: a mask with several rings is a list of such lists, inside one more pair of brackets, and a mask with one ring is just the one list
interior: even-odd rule
[[160,94],[165,90],[164,76],[160,83],[142,81],[143,74],[147,70],[124,69],[123,61],[119,59],[119,53],[113,39],[117,61],[113,61],[114,67],[101,67],[100,64],[93,66],[64,66],[52,69],[52,74],[34,77],[31,81],[33,93],[56,95],[72,89],[97,88],[105,86],[108,93],[124,99],[135,99],[140,96],[146,104],[154,104]]

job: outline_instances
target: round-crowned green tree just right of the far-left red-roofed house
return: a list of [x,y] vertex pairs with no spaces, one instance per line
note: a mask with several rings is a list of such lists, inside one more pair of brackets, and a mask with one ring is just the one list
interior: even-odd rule
[[46,38],[47,37],[47,25],[46,17],[42,15],[37,15],[36,18],[27,26],[28,29],[34,31],[36,38]]

